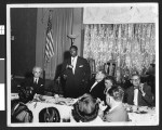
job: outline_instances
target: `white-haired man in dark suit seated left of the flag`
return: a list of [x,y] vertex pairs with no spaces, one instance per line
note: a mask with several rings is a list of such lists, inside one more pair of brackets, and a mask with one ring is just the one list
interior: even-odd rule
[[42,68],[35,66],[32,74],[32,77],[25,79],[23,87],[32,87],[33,93],[44,94],[44,80],[41,78]]

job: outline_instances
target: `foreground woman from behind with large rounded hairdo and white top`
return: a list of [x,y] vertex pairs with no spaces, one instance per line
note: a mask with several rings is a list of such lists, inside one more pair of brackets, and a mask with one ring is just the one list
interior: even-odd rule
[[98,116],[99,105],[91,94],[84,94],[73,105],[71,121],[77,122],[103,122]]

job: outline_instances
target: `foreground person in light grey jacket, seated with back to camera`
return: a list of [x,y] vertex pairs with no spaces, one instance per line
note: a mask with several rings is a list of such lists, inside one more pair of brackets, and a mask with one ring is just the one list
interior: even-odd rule
[[123,106],[124,91],[119,86],[112,86],[106,93],[107,105],[110,109],[104,115],[103,120],[108,122],[129,121],[129,115]]

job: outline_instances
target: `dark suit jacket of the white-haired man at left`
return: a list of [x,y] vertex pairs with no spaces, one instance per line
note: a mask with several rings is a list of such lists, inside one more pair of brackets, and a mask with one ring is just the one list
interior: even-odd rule
[[44,80],[39,78],[38,83],[35,83],[33,77],[25,79],[23,87],[32,87],[37,94],[44,94]]

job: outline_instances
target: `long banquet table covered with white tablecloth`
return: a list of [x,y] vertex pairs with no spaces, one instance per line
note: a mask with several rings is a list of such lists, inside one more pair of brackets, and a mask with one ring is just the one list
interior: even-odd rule
[[[16,93],[12,93],[11,100],[18,99]],[[33,121],[39,122],[39,113],[41,109],[46,107],[55,107],[58,109],[60,115],[60,122],[68,120],[71,117],[72,104],[77,102],[77,99],[65,99],[65,98],[54,98],[42,95],[41,101],[33,100],[26,105],[33,114]],[[156,107],[148,106],[134,106],[124,104],[127,110],[130,121],[123,125],[127,126],[153,126],[158,123],[158,114]],[[108,125],[104,122],[103,125]]]

